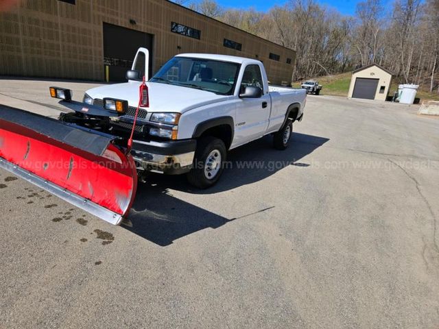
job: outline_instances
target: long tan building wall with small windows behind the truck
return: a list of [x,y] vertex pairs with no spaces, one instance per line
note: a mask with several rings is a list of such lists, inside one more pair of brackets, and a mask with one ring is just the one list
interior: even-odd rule
[[[200,29],[201,40],[172,33],[171,21]],[[0,14],[0,75],[103,80],[103,22],[154,34],[154,72],[176,53],[258,55],[272,83],[291,82],[295,51],[165,0],[22,0]],[[224,38],[242,51],[224,47]],[[270,60],[270,52],[281,60]]]

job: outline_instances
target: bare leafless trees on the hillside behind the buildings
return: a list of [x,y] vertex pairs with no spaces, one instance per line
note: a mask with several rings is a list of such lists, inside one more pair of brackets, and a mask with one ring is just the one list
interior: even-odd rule
[[439,92],[439,0],[357,3],[344,15],[314,0],[289,0],[268,12],[223,8],[215,0],[177,0],[201,14],[296,50],[293,80],[377,63],[397,82]]

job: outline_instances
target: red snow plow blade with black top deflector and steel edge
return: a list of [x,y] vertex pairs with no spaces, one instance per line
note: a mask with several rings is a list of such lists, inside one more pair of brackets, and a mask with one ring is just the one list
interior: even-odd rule
[[0,168],[114,225],[137,189],[134,161],[117,140],[0,105]]

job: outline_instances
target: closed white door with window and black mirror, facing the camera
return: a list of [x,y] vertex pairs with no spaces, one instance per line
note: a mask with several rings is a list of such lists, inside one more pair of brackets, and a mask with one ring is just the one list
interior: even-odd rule
[[263,95],[259,98],[241,98],[239,100],[236,108],[235,138],[232,147],[263,136],[268,128],[271,101],[268,88],[264,88],[261,67],[258,64],[249,64],[244,69],[241,90],[246,86],[261,88]]

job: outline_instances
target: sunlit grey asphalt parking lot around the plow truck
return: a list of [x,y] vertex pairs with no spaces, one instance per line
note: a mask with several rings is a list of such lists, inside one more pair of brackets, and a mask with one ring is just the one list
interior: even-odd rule
[[[56,117],[51,85],[0,103]],[[48,105],[49,107],[47,107]],[[110,226],[0,170],[0,328],[438,328],[439,120],[309,96],[207,191],[151,175]]]

